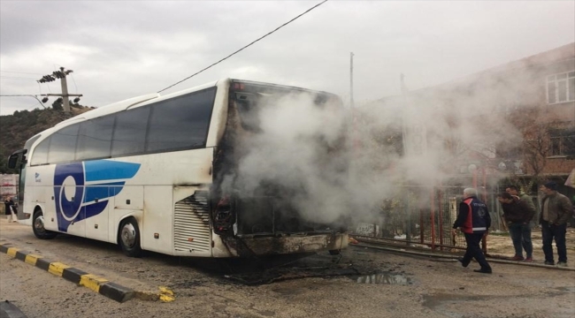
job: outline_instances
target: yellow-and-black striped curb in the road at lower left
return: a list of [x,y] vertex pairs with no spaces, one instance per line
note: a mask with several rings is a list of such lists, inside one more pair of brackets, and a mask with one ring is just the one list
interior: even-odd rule
[[0,244],[0,252],[8,254],[20,261],[27,262],[39,269],[46,270],[56,276],[60,276],[74,284],[88,287],[92,291],[98,292],[103,296],[119,301],[120,303],[133,299],[136,294],[136,292],[131,288],[112,283],[103,277],[88,274],[83,270],[74,269],[73,267],[58,261],[48,261],[42,256],[22,251],[17,247],[12,247],[10,243]]

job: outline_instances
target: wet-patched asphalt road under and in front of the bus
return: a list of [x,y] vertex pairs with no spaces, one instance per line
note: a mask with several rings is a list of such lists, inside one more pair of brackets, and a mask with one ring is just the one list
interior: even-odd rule
[[[167,286],[175,292],[175,301],[169,303],[119,303],[0,254],[0,300],[10,300],[30,318],[575,316],[573,271],[494,263],[494,274],[486,275],[472,272],[479,267],[475,263],[464,269],[455,259],[357,246],[341,259],[319,254],[292,260],[287,267],[279,267],[288,261],[283,259],[267,260],[273,265],[161,254],[132,259],[117,246],[89,239],[35,239],[27,226],[3,218],[0,243],[6,242],[137,291],[157,292]],[[339,276],[350,273],[355,275]],[[273,279],[270,284],[238,283]]]

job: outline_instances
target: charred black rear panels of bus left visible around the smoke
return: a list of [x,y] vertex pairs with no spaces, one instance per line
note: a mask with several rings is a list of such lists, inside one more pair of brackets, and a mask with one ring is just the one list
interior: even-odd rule
[[[230,254],[310,253],[340,250],[348,245],[344,220],[315,222],[298,208],[297,198],[306,195],[304,180],[302,186],[294,186],[293,182],[286,183],[273,176],[250,180],[250,176],[242,175],[240,164],[253,150],[250,147],[258,147],[252,140],[266,133],[262,128],[265,118],[260,114],[290,95],[304,95],[305,100],[313,102],[313,107],[324,111],[342,111],[341,100],[336,95],[297,87],[230,81],[226,130],[214,154],[211,186],[213,231]],[[340,133],[337,142],[331,144],[320,135],[312,136],[316,139],[317,154],[314,155],[318,158],[318,167],[339,173],[348,169],[346,161],[338,156],[348,146],[345,129]],[[245,183],[255,181],[257,186],[247,189]]]

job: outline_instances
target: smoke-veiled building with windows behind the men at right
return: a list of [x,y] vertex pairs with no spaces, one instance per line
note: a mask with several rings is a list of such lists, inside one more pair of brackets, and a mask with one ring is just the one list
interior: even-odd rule
[[364,107],[387,110],[403,125],[403,155],[434,152],[449,175],[562,185],[575,169],[575,42]]

